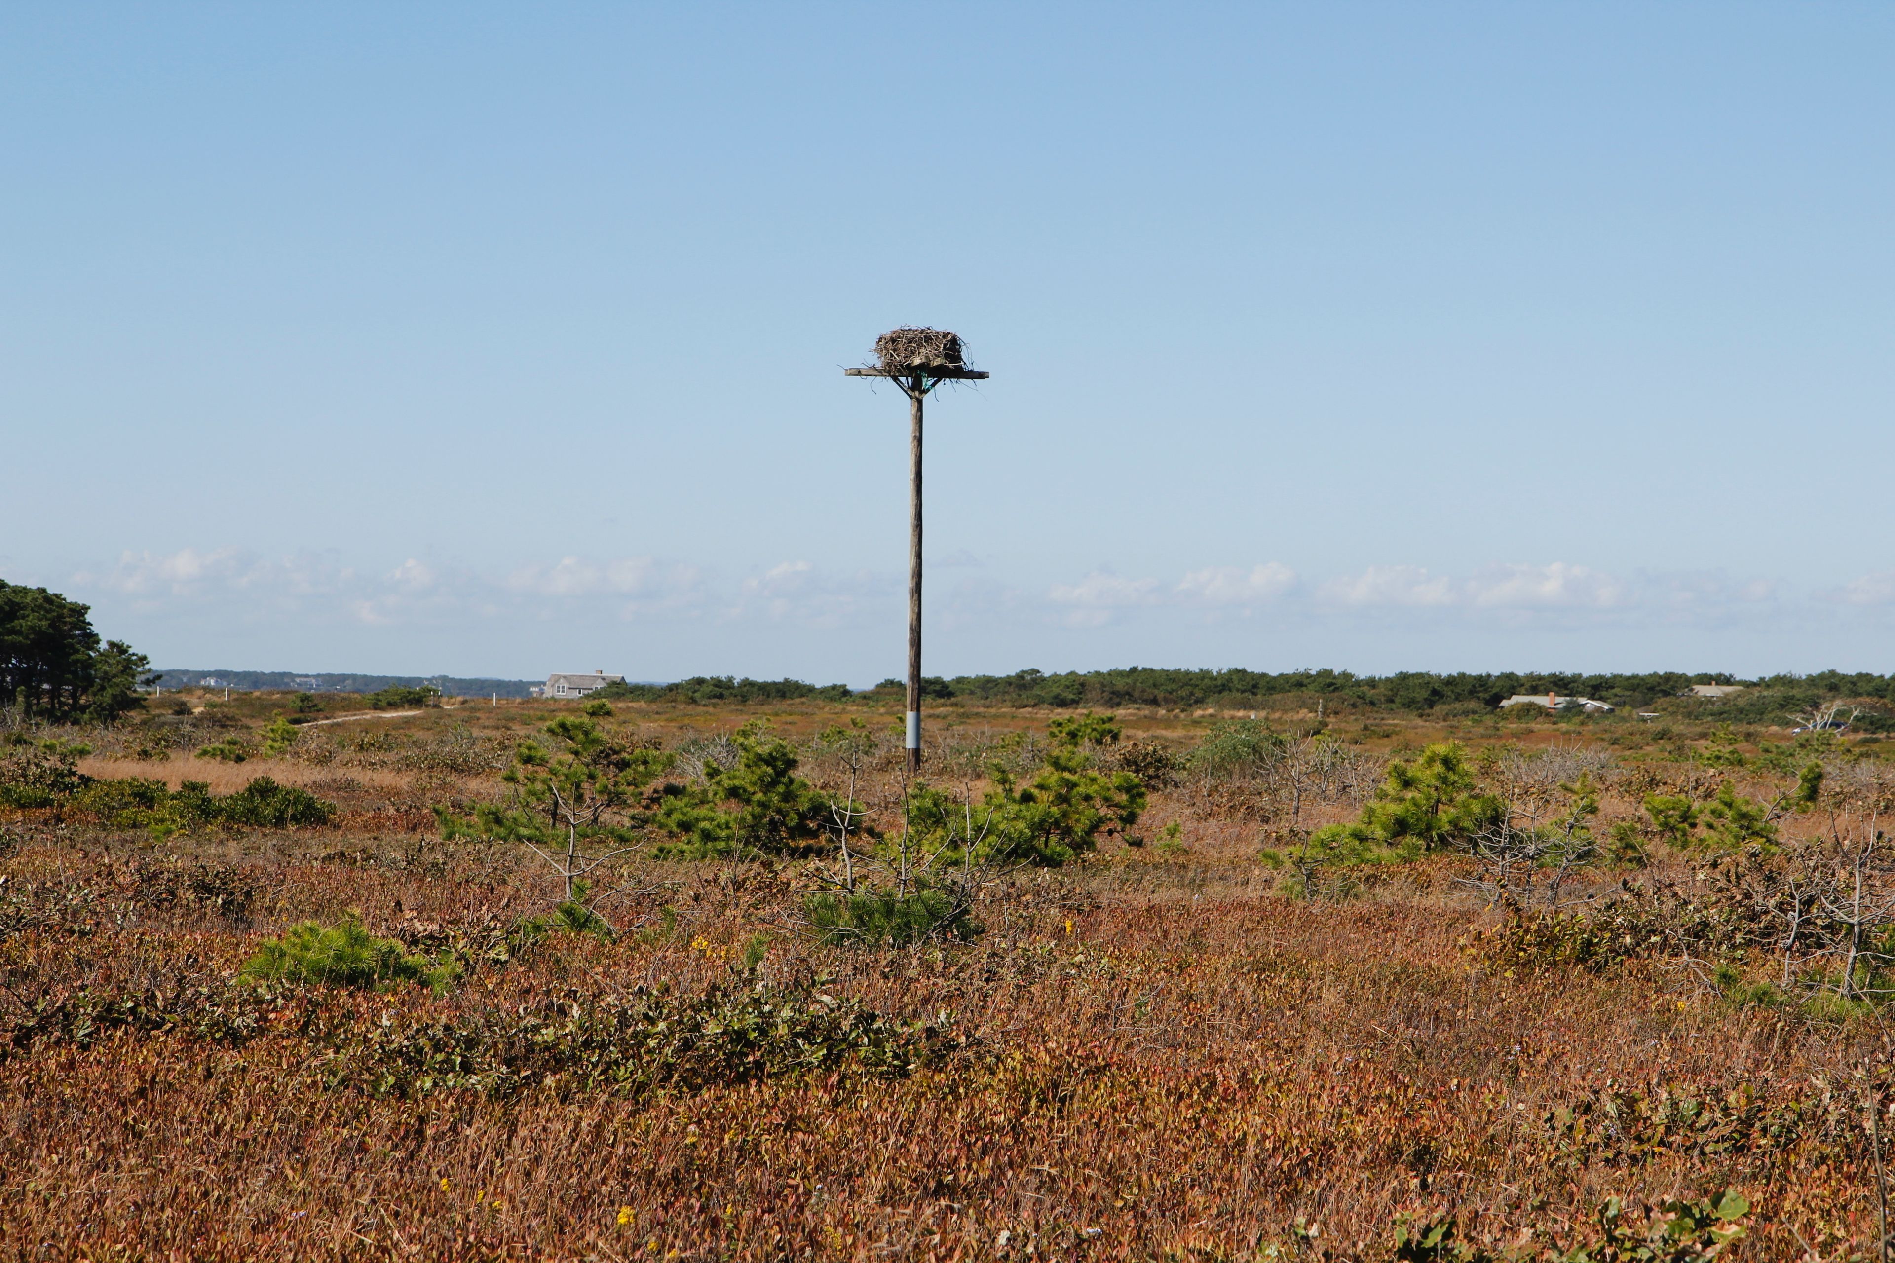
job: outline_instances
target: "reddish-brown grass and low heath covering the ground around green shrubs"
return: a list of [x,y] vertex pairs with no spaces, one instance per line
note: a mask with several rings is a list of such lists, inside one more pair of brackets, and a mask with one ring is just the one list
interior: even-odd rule
[[[1732,979],[1770,975],[1762,949],[1724,973],[1688,947],[1533,956],[1461,884],[1478,867],[1461,852],[1321,898],[1258,858],[1355,818],[1387,759],[1442,738],[1596,752],[1580,763],[1605,786],[1603,835],[1645,820],[1651,792],[1766,795],[1783,733],[1338,716],[1353,780],[1294,820],[1268,778],[1154,778],[1143,845],[995,877],[972,943],[817,943],[802,909],[821,856],[633,854],[601,905],[612,941],[521,945],[506,928],[557,899],[546,865],[443,843],[428,809],[504,797],[512,740],[551,706],[191,757],[280,706],[176,716],[178,740],[91,735],[81,771],[214,793],[267,774],[334,801],[332,826],[155,839],[83,812],[0,816],[0,1257],[1391,1259],[1400,1223],[1448,1218],[1450,1240],[1537,1257],[1599,1242],[1607,1199],[1643,1233],[1647,1202],[1726,1189],[1749,1202],[1728,1257],[1878,1257],[1874,1004],[1751,1002]],[[756,718],[809,742],[860,708],[622,704],[605,725],[678,748]],[[1048,718],[944,712],[934,776],[978,788],[982,752]],[[1230,718],[1120,716],[1128,742],[1179,757]],[[1785,816],[1787,854],[1882,793],[1878,746],[1814,757],[1855,795]],[[1516,801],[1539,767],[1520,759],[1476,763]],[[802,771],[841,774],[815,746]],[[885,735],[868,771],[893,833]],[[1596,862],[1575,890],[1673,881],[1715,903],[1704,856],[1651,852]],[[349,913],[413,951],[451,945],[459,979],[237,979],[265,937]]]

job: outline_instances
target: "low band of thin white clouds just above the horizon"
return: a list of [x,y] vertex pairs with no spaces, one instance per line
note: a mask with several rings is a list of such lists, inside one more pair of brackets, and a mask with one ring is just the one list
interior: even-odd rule
[[[470,619],[608,619],[665,623],[771,623],[805,629],[883,627],[902,619],[904,576],[836,572],[809,559],[785,559],[745,578],[714,576],[650,555],[582,555],[510,572],[449,566],[409,557],[392,570],[356,572],[318,555],[265,559],[237,547],[174,553],[127,551],[117,564],[72,576],[78,593],[127,598],[146,612],[262,623],[294,615],[373,627],[451,625]],[[1853,606],[1895,604],[1895,572],[1865,576],[1823,595]],[[934,612],[955,625],[1107,627],[1196,614],[1268,615],[1285,625],[1325,619],[1374,623],[1416,619],[1512,627],[1766,625],[1789,606],[1768,579],[1715,572],[1615,576],[1575,562],[1505,562],[1453,576],[1421,566],[1368,566],[1306,579],[1268,560],[1203,566],[1177,579],[1093,570],[1078,579],[1027,589],[997,578],[936,589]],[[946,602],[946,604],[942,604]]]

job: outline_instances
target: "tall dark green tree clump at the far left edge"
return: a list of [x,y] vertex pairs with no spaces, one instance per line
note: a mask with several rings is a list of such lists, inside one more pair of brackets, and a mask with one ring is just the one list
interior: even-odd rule
[[91,606],[0,579],[0,706],[28,720],[110,723],[144,704],[150,663],[123,640],[99,640]]

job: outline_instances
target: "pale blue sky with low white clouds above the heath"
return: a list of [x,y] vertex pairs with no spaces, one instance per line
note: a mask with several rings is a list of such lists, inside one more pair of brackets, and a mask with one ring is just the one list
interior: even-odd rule
[[1895,8],[9,6],[0,578],[161,665],[1895,668]]

